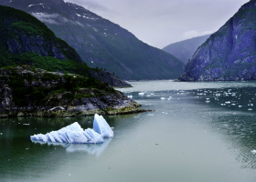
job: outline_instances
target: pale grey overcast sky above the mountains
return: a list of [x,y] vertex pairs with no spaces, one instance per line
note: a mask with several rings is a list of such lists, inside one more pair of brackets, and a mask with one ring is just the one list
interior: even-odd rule
[[129,30],[149,45],[216,32],[249,0],[65,0]]

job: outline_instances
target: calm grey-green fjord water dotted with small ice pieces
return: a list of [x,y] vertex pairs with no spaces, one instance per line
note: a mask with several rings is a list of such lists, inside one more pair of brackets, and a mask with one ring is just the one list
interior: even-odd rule
[[104,116],[115,136],[101,145],[29,139],[92,116],[0,119],[0,181],[256,181],[256,82],[131,84],[120,90],[156,111]]

